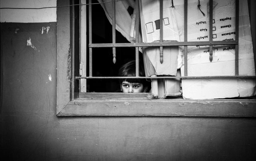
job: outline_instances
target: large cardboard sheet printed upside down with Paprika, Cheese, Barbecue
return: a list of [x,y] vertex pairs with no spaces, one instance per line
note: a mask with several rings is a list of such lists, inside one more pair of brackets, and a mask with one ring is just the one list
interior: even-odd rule
[[[197,1],[189,1],[195,6]],[[208,1],[200,1],[200,11],[188,8],[188,41],[209,41]],[[200,23],[201,22],[201,23]],[[206,23],[202,23],[206,22]],[[206,30],[204,30],[206,29]],[[213,41],[235,40],[235,0],[213,3]],[[235,47],[213,46],[213,61],[209,47],[188,48],[188,76],[235,75]],[[181,67],[184,76],[184,66]],[[239,75],[255,75],[254,55],[246,0],[239,3]],[[214,99],[255,95],[254,78],[182,79],[184,99]]]

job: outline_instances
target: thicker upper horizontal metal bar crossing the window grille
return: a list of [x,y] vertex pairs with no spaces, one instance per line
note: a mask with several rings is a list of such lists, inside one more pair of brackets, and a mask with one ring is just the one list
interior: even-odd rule
[[159,46],[197,46],[197,45],[235,45],[238,41],[187,41],[187,42],[152,42],[152,43],[107,43],[89,44],[89,47],[159,47]]

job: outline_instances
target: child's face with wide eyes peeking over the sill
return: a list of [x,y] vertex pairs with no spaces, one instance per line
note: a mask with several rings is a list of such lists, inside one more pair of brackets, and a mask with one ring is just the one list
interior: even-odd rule
[[130,83],[127,81],[123,81],[121,84],[122,92],[134,92],[134,93],[141,93],[146,92],[142,83]]

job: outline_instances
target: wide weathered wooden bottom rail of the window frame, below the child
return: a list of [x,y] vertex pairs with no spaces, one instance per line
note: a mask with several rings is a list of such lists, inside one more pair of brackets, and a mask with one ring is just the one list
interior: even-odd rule
[[256,99],[76,99],[57,116],[256,117]]

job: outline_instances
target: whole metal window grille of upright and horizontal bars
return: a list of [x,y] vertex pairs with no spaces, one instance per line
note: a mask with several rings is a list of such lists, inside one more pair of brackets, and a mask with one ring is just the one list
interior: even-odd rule
[[[91,0],[89,0],[91,3]],[[115,5],[115,0],[112,0],[112,5]],[[115,8],[112,7],[112,14],[115,11]],[[115,43],[115,31],[113,32],[113,43],[108,44],[92,44],[92,19],[91,19],[91,4],[89,4],[89,77],[75,77],[76,79],[118,79],[118,78],[151,78],[151,79],[159,79],[159,78],[255,78],[255,76],[243,76],[238,75],[238,38],[239,38],[239,0],[236,0],[236,37],[235,41],[212,41],[212,26],[213,26],[213,0],[210,0],[210,41],[187,41],[187,0],[184,0],[184,42],[163,42],[163,21],[160,21],[160,42],[153,43],[139,43],[139,2],[136,1],[136,43]],[[163,0],[160,0],[160,20],[163,19]],[[115,25],[115,21],[112,22],[113,26]],[[112,27],[114,30],[115,27]],[[187,76],[187,46],[197,46],[197,45],[209,45],[210,47],[210,57],[212,60],[212,47],[213,45],[235,45],[235,75],[234,76]],[[160,47],[160,55],[161,48],[164,46],[184,46],[184,76],[164,76],[164,77],[140,77],[139,76],[139,62],[138,62],[138,49],[139,47]],[[136,47],[136,76],[135,77],[93,77],[92,76],[92,48],[97,47]],[[114,50],[113,50],[114,55]],[[161,59],[161,58],[160,58]]]

